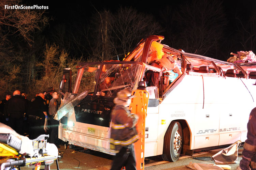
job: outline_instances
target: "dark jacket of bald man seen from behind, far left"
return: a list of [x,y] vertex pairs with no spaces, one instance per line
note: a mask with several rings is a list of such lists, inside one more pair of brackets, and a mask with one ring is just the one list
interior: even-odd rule
[[23,118],[23,114],[26,112],[27,102],[21,95],[14,95],[10,98],[4,106],[5,118]]

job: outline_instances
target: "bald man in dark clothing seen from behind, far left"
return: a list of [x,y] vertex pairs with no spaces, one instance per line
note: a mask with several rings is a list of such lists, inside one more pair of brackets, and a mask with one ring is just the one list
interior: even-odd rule
[[19,90],[13,92],[13,96],[4,106],[4,115],[7,125],[13,128],[18,134],[23,135],[23,116],[27,109],[27,102],[20,95]]

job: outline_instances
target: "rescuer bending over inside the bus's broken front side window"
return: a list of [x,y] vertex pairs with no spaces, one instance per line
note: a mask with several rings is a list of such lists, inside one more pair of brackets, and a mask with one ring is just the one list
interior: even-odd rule
[[[170,56],[167,53],[162,56],[160,60],[154,61],[151,66],[160,68],[164,71],[174,70],[178,75],[182,74],[181,69],[176,63],[177,56]],[[147,82],[149,86],[158,86],[159,83],[159,72],[154,72],[152,70],[148,70],[145,73],[144,81]]]

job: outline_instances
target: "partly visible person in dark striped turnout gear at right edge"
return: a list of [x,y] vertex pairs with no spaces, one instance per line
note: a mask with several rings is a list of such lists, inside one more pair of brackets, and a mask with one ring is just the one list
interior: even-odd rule
[[[256,108],[254,108],[247,123],[247,139],[244,142],[243,158],[240,161],[242,170],[256,170]],[[239,169],[239,167],[237,168]]]

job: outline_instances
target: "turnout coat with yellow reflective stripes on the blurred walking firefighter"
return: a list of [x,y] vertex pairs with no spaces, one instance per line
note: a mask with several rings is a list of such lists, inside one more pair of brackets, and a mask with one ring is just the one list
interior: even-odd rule
[[138,117],[123,105],[116,105],[111,112],[111,139],[110,149],[116,153],[123,146],[128,146],[139,139],[136,128]]

